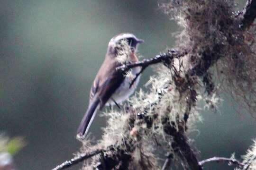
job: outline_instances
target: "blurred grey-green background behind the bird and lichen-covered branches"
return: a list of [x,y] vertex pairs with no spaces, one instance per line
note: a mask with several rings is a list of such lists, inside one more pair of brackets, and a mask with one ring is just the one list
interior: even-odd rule
[[[26,137],[15,156],[18,169],[50,170],[79,150],[76,129],[114,35],[144,39],[139,52],[150,58],[173,47],[179,30],[156,0],[0,0],[0,132]],[[152,74],[145,71],[140,88]],[[221,113],[203,111],[200,133],[191,135],[200,160],[233,152],[239,158],[256,137],[256,120],[235,112],[229,96],[223,99]],[[96,139],[105,121],[94,120]],[[213,163],[205,169],[233,168]]]

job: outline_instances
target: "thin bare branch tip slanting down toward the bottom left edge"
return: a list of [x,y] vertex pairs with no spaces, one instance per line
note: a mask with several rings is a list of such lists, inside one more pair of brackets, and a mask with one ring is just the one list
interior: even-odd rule
[[54,169],[52,170],[64,170],[70,166],[73,166],[79,162],[82,162],[88,158],[91,158],[92,156],[95,156],[97,154],[100,154],[100,153],[104,153],[104,152],[107,152],[107,151],[110,151],[112,150],[112,146],[109,146],[107,150],[104,150],[104,149],[95,149],[94,151],[91,151],[90,153],[82,153],[74,158],[72,158],[71,160],[69,161],[64,161],[62,164],[56,166]]

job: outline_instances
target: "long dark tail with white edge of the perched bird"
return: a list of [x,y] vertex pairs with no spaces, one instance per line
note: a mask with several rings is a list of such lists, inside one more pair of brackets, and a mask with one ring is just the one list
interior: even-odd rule
[[82,121],[77,129],[77,137],[85,137],[90,126],[91,122],[95,117],[95,114],[97,113],[100,103],[100,99],[98,97],[95,97],[94,100],[89,104],[88,110],[86,111],[85,115],[82,118]]

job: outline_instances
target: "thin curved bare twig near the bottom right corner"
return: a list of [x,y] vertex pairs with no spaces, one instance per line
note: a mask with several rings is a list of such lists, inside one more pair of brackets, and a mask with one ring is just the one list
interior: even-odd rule
[[203,165],[205,163],[208,163],[208,162],[227,162],[229,164],[229,166],[231,165],[237,165],[239,166],[240,168],[243,168],[245,166],[244,163],[236,160],[235,158],[224,158],[224,157],[212,157],[212,158],[209,158],[209,159],[206,159],[206,160],[203,160],[203,161],[200,161],[199,162],[199,165]]

